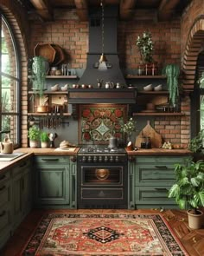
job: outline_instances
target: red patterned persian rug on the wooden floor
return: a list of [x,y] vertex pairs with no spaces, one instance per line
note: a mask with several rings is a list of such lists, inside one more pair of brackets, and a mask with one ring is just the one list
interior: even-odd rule
[[162,215],[48,213],[22,255],[188,255]]

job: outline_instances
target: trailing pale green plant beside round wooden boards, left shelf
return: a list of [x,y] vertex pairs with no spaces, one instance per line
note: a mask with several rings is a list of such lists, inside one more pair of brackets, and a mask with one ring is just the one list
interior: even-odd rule
[[47,63],[47,60],[42,56],[33,58],[31,80],[34,91],[40,96],[43,95],[43,90],[45,89]]

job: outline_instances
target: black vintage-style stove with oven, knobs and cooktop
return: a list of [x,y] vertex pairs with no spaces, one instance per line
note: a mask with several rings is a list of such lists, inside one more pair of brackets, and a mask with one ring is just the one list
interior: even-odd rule
[[78,208],[127,208],[128,169],[124,148],[87,145],[77,156]]

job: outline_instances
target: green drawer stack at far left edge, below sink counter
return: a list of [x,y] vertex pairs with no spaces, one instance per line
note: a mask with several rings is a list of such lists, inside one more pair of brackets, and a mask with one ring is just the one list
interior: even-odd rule
[[8,171],[0,174],[0,248],[10,238],[11,229],[11,182]]

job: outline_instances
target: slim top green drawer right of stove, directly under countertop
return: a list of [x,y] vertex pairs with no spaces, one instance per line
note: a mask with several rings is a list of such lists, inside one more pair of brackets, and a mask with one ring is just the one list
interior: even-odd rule
[[136,164],[144,163],[144,164],[155,164],[155,165],[161,165],[161,164],[171,164],[174,167],[175,163],[182,163],[187,161],[189,157],[187,156],[174,156],[174,155],[168,155],[168,156],[161,156],[161,155],[156,155],[156,156],[137,156],[136,157]]

